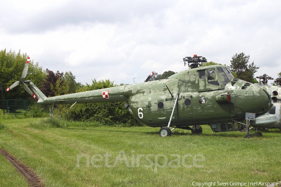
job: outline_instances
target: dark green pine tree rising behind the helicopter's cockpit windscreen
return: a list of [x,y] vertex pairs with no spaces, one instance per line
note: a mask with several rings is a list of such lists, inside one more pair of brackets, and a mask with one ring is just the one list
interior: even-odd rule
[[248,65],[250,55],[245,55],[243,52],[235,54],[230,60],[231,64],[229,69],[234,74],[235,78],[242,79],[247,82],[256,83],[257,80],[254,78],[259,67],[254,65],[254,61]]

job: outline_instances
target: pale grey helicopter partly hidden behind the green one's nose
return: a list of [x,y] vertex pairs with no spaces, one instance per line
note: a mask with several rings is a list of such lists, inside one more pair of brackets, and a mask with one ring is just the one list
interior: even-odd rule
[[272,100],[273,106],[268,111],[269,114],[273,114],[277,118],[277,122],[273,124],[270,127],[263,127],[263,128],[278,128],[281,130],[281,79],[277,78],[275,79],[275,83],[278,84],[278,86],[268,85],[268,80],[273,80],[272,77],[268,76],[267,74],[263,74],[261,76],[257,76],[257,79],[259,79],[259,83],[256,84],[260,87],[262,87],[264,90],[266,90]]

